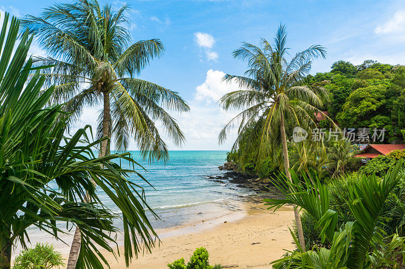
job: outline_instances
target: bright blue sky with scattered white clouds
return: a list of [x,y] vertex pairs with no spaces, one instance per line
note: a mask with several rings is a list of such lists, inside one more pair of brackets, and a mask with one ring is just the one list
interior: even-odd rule
[[[368,59],[405,64],[405,1],[127,1],[108,3],[115,9],[130,5],[128,31],[134,42],[159,38],[166,48],[140,78],[179,92],[191,108],[189,113],[172,113],[186,141],[178,148],[166,139],[170,150],[230,149],[236,130],[221,145],[218,134],[237,112],[223,111],[218,99],[237,86],[222,78],[246,71],[244,62],[232,58],[232,51],[241,42],[272,41],[280,24],[287,27],[291,55],[314,44],[327,47],[327,58],[315,60],[311,74],[328,72],[339,60],[355,65]],[[48,6],[68,2],[0,0],[0,13],[38,15]],[[30,53],[46,56],[37,44]],[[95,126],[99,109],[86,108],[76,128]],[[136,150],[136,144],[129,149]]]

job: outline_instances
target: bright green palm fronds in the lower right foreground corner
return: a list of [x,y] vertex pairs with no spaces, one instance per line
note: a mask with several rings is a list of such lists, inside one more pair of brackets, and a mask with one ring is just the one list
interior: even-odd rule
[[[320,242],[305,251],[294,236],[298,250],[274,262],[274,268],[381,268],[398,266],[396,256],[405,256],[405,237],[397,231],[387,234],[380,228],[384,207],[400,180],[402,162],[391,168],[379,181],[375,175],[358,175],[347,185],[347,206],[352,220],[340,223],[339,213],[331,206],[331,195],[319,181],[312,185],[303,175],[304,184],[292,171],[293,182],[279,178],[275,182],[282,199],[266,199],[275,210],[286,203],[301,206],[319,231]],[[403,220],[402,220],[403,222]],[[400,264],[399,264],[400,265]]]

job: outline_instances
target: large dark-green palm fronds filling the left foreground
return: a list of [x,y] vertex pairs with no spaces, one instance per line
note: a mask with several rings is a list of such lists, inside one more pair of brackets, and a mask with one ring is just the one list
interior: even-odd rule
[[[108,264],[97,247],[113,252],[109,243],[117,244],[111,235],[118,229],[112,221],[118,216],[101,203],[92,181],[122,211],[128,265],[133,252],[137,255],[142,245],[150,251],[156,238],[146,217],[144,193],[127,180],[131,173],[144,179],[134,170],[139,166],[129,153],[96,157],[95,145],[107,138],[91,141],[89,127],[64,137],[68,118],[62,105],[47,105],[54,87],[42,90],[41,67],[27,60],[32,42],[28,31],[14,50],[18,30],[19,21],[13,17],[9,22],[6,13],[0,31],[0,268],[10,269],[16,244],[27,248],[30,227],[62,240],[60,235],[67,232],[59,223],[81,231],[77,267]],[[113,162],[116,158],[133,169],[121,168]]]

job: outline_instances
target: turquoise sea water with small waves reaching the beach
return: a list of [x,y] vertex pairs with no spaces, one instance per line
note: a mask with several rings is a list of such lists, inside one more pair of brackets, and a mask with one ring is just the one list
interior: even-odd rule
[[[228,210],[237,210],[235,197],[251,194],[246,188],[238,188],[234,184],[215,182],[208,176],[220,176],[218,166],[226,162],[226,151],[170,151],[170,158],[166,162],[149,164],[142,160],[138,151],[132,151],[134,159],[146,171],[140,172],[154,189],[137,175],[131,175],[129,180],[142,186],[146,194],[146,202],[157,214],[159,220],[149,219],[155,229],[177,227],[187,223],[204,219],[215,219]],[[121,166],[128,168],[128,162],[121,162]],[[119,213],[118,208],[108,196],[99,193],[103,203]],[[119,227],[119,221],[116,225]]]

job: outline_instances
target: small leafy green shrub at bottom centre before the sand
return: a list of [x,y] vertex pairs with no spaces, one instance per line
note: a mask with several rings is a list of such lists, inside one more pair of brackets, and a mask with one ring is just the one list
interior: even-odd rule
[[190,257],[190,261],[185,264],[184,258],[168,264],[170,269],[221,269],[221,264],[210,265],[208,257],[210,254],[204,247],[196,248]]

